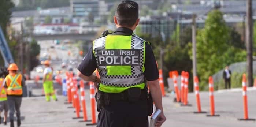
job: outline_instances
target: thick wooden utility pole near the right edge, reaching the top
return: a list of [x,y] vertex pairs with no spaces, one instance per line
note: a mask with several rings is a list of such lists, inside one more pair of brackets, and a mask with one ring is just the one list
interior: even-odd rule
[[247,49],[247,73],[248,85],[253,85],[252,78],[252,0],[247,0],[246,3],[246,49]]

